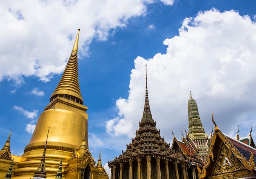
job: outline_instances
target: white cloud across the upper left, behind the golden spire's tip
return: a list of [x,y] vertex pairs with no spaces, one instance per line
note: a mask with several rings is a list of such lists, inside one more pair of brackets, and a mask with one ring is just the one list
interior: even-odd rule
[[[170,0],[163,2],[172,4]],[[0,81],[22,84],[23,77],[31,75],[49,81],[65,68],[76,29],[81,28],[80,55],[88,55],[92,39],[106,40],[110,29],[125,27],[129,18],[146,14],[149,3],[153,1],[2,1]]]

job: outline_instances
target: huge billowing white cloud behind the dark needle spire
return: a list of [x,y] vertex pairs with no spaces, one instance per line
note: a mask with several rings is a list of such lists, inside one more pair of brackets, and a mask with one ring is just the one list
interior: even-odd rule
[[[179,35],[164,40],[165,54],[135,59],[128,99],[116,101],[119,117],[109,120],[106,130],[130,136],[138,129],[147,63],[151,112],[167,141],[173,138],[172,128],[181,136],[180,131],[188,126],[190,90],[207,133],[211,132],[212,112],[223,132],[234,135],[237,125],[241,125],[249,133],[248,122],[256,118],[255,34],[256,24],[236,11],[211,9],[195,18],[185,18]],[[128,122],[132,124],[129,128],[124,125]]]

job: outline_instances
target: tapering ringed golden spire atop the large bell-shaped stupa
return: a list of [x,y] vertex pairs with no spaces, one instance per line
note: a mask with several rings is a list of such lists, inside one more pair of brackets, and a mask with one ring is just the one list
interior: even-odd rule
[[74,101],[79,104],[83,104],[83,98],[80,91],[79,79],[78,79],[78,41],[79,41],[79,31],[76,36],[76,41],[70,59],[67,62],[67,66],[63,72],[60,82],[58,83],[54,93],[50,97],[52,102],[56,97],[60,96],[65,99]]

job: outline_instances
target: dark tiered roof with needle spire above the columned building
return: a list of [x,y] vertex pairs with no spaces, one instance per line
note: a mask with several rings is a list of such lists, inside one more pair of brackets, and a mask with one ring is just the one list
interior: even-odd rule
[[156,128],[156,122],[153,120],[149,100],[148,100],[148,87],[147,87],[147,71],[146,71],[146,96],[144,111],[139,122],[139,130],[136,130],[136,136],[130,144],[126,144],[126,151],[122,151],[119,157],[115,157],[109,164],[118,161],[125,161],[130,158],[154,155],[162,156],[166,158],[173,158],[177,160],[183,160],[187,162],[186,157],[180,153],[179,155],[173,152],[170,148],[170,144],[164,140],[164,137],[160,136],[160,130]]

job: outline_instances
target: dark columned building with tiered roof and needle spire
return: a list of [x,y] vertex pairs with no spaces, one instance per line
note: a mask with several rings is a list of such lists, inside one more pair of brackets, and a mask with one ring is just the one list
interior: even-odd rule
[[126,151],[108,162],[111,179],[189,179],[189,163],[183,153],[171,150],[156,128],[148,101],[146,71],[146,97],[139,130]]

